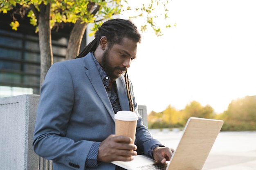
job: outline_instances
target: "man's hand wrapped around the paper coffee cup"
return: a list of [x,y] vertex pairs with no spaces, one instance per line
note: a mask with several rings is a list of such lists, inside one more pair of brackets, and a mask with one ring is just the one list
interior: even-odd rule
[[132,139],[126,136],[110,135],[101,142],[98,152],[98,161],[132,161],[132,156],[137,155],[137,146]]

